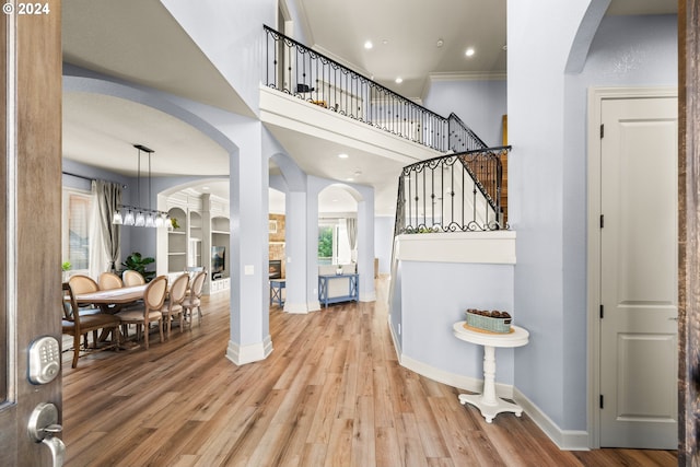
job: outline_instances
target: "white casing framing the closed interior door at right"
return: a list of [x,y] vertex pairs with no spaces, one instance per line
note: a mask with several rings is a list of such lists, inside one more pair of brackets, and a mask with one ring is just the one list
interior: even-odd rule
[[588,446],[600,447],[600,412],[598,395],[600,394],[600,122],[602,104],[605,100],[640,98],[640,97],[677,97],[674,86],[660,87],[591,87],[588,90],[587,121],[587,361],[588,361]]

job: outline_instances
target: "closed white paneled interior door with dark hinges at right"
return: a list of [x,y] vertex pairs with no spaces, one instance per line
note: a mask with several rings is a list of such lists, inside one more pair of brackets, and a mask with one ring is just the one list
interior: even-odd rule
[[675,450],[677,101],[600,108],[600,446]]

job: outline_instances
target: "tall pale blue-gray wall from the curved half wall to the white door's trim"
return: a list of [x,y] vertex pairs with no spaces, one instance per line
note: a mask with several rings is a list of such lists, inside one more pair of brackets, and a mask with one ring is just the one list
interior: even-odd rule
[[530,331],[515,353],[515,386],[562,430],[587,428],[587,91],[675,85],[677,70],[675,16],[615,16],[599,25],[583,71],[565,74],[591,3],[509,1],[515,315]]

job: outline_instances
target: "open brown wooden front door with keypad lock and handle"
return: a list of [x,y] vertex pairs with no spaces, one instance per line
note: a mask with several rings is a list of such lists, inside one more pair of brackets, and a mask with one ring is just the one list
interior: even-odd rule
[[[60,341],[61,31],[60,0],[7,1],[0,21],[0,465],[50,466],[46,444],[27,425],[43,404],[61,413],[60,370],[30,382],[30,352],[40,337]],[[20,11],[24,8],[24,11]],[[21,14],[24,13],[24,14]],[[60,361],[60,359],[59,359]],[[60,434],[58,434],[60,436]]]

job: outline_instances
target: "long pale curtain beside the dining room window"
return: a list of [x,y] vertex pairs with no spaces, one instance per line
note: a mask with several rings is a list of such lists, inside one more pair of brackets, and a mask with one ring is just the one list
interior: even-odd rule
[[90,276],[115,271],[121,256],[119,225],[112,223],[114,212],[121,205],[121,186],[92,180],[92,227],[90,232]]

